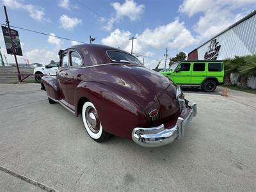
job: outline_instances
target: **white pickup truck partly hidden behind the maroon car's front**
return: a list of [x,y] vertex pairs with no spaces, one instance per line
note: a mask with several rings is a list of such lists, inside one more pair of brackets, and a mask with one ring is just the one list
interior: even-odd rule
[[44,67],[36,67],[34,68],[35,80],[37,83],[41,82],[42,75],[56,75],[59,65],[57,63],[50,63],[49,65],[45,65]]

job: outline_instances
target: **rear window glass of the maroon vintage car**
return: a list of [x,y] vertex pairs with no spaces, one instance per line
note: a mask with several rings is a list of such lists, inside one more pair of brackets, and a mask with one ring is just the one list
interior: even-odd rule
[[107,51],[107,54],[112,61],[121,62],[121,63],[135,63],[138,65],[141,65],[139,60],[137,60],[131,54],[127,54],[126,52]]

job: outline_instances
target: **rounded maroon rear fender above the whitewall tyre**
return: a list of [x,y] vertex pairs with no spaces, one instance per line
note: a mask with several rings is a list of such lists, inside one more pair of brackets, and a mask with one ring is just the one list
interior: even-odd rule
[[82,107],[79,100],[84,98],[94,104],[102,127],[111,134],[131,139],[134,127],[147,125],[147,116],[143,109],[127,95],[106,84],[83,81],[77,86],[75,91],[76,115]]

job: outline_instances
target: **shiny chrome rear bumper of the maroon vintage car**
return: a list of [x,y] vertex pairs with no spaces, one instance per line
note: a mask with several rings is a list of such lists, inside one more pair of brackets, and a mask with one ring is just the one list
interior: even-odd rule
[[188,122],[191,122],[193,117],[196,116],[196,103],[189,103],[188,108],[191,108],[188,116],[186,116],[186,118],[179,116],[176,125],[169,129],[164,129],[163,124],[150,128],[134,128],[132,131],[132,140],[143,147],[159,147],[167,145],[172,143],[176,138],[182,140],[184,138],[185,125]]

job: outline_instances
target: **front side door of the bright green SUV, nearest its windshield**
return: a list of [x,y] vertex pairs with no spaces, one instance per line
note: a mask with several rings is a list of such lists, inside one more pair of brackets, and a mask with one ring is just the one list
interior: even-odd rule
[[191,63],[180,62],[179,66],[173,72],[174,83],[190,84],[191,83]]

